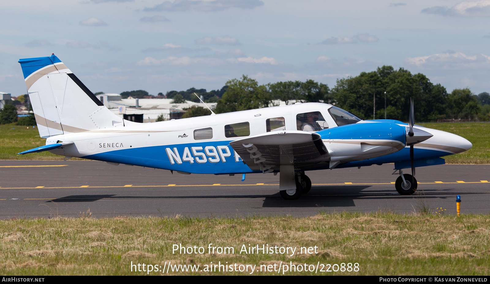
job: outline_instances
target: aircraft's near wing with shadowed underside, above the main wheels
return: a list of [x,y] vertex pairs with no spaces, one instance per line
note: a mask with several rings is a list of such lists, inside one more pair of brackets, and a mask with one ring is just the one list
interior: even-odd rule
[[244,163],[254,171],[270,173],[280,165],[301,165],[326,155],[321,136],[299,130],[272,131],[230,142]]

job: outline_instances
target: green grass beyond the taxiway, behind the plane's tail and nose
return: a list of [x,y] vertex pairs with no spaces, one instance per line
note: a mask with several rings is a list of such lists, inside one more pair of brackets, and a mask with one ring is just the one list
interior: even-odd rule
[[[468,139],[473,148],[461,154],[444,157],[448,164],[490,164],[490,123],[421,123],[421,126],[451,132]],[[25,150],[43,146],[37,129],[13,124],[0,125],[1,160],[62,160],[49,152],[19,155]],[[77,158],[72,158],[75,160]]]

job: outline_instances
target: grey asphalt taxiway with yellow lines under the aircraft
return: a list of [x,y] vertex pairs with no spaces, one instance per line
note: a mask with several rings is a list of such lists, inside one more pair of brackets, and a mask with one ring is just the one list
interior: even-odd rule
[[[393,164],[310,171],[313,186],[283,200],[273,174],[182,175],[99,161],[0,161],[0,219],[56,216],[311,216],[320,211],[411,213],[421,207],[490,213],[490,165],[417,168],[417,193],[394,189]],[[407,169],[405,173],[410,173]]]

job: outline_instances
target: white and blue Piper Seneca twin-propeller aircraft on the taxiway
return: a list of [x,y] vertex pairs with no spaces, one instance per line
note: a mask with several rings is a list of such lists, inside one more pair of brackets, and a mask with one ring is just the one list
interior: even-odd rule
[[[279,175],[280,195],[311,189],[311,170],[394,163],[402,195],[417,190],[415,168],[472,147],[463,137],[410,122],[364,121],[334,105],[294,103],[195,118],[135,123],[107,109],[54,54],[20,59],[41,137],[49,151],[181,174]],[[412,175],[403,169],[412,169]]]

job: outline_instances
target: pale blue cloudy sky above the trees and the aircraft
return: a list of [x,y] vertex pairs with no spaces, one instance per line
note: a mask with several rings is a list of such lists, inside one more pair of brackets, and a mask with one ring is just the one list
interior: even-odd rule
[[378,66],[450,92],[490,92],[490,0],[16,0],[0,4],[0,92],[25,94],[17,61],[56,54],[93,92],[335,86]]

